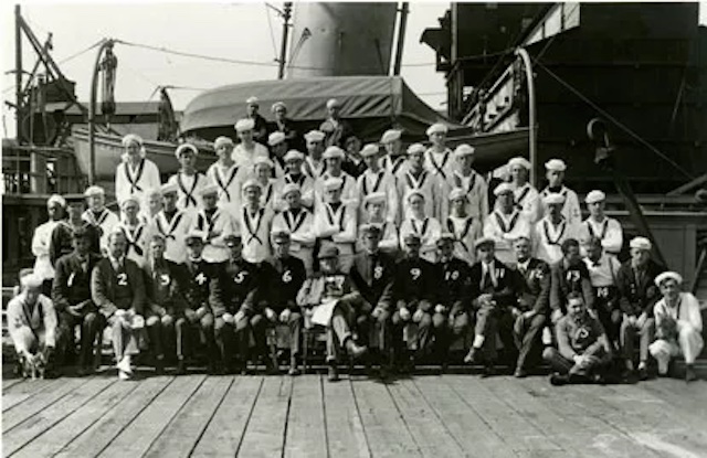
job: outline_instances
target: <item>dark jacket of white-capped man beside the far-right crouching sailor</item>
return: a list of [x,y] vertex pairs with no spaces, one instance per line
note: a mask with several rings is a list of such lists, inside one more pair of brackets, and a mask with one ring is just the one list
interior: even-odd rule
[[662,298],[661,290],[655,286],[655,277],[663,271],[665,271],[665,267],[650,259],[642,281],[637,281],[635,271],[631,267],[631,259],[623,263],[616,273],[621,310],[631,316],[637,316],[645,311],[648,317],[652,317],[655,302]]

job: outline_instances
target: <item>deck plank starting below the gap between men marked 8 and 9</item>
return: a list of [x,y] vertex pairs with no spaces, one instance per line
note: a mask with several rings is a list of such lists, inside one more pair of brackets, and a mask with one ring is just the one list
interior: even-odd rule
[[[437,383],[441,383],[441,377]],[[452,437],[434,409],[421,396],[412,380],[401,380],[388,385],[388,391],[398,406],[408,429],[424,457],[458,457],[464,451]]]

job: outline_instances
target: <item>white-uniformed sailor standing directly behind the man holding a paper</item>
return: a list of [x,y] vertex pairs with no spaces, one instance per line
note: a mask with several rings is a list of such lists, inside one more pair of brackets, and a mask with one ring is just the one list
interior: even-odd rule
[[319,239],[319,249],[330,246],[339,249],[339,265],[348,273],[354,263],[356,243],[357,209],[341,202],[344,183],[340,178],[329,178],[324,182],[324,204],[315,207],[314,234]]

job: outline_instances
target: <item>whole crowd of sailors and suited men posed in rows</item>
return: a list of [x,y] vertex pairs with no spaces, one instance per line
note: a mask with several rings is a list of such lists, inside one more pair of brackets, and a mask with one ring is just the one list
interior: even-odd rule
[[8,308],[22,364],[63,364],[80,327],[78,372],[89,373],[108,326],[120,379],[133,376],[140,349],[158,372],[172,360],[187,372],[198,348],[211,373],[244,372],[249,362],[276,372],[267,332],[282,324],[292,375],[302,330],[320,327],[331,380],[341,353],[377,362],[383,375],[410,372],[423,356],[444,369],[467,332],[464,361],[485,374],[503,348],[519,377],[541,354],[553,383],[603,380],[616,361],[625,377],[645,380],[651,356],[665,374],[678,355],[696,379],[697,300],[651,259],[647,238],[631,239],[630,259],[618,260],[623,231],[604,214],[605,194],[587,194],[582,221],[563,161],[545,164],[548,185],[538,191],[530,163],[514,158],[508,180],[489,190],[473,168],[475,149],[450,149],[442,124],[428,129],[429,147],[403,149],[394,129],[361,146],[329,100],[321,129],[304,136],[305,153],[291,147],[298,140],[284,104],[273,106],[270,135],[256,105],[249,100],[255,120],[235,124],[238,146],[215,139],[205,174],[186,142],[175,152],[180,170],[161,183],[141,139],[126,136],[119,215],[95,185],[49,200],[36,264]]

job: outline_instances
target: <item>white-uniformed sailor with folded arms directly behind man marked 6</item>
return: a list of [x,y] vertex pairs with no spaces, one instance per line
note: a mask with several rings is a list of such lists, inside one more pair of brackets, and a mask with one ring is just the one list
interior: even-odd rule
[[287,183],[282,189],[285,209],[273,219],[273,233],[289,234],[289,254],[305,264],[307,276],[314,271],[314,215],[304,207],[302,191],[296,183]]

